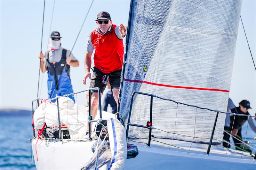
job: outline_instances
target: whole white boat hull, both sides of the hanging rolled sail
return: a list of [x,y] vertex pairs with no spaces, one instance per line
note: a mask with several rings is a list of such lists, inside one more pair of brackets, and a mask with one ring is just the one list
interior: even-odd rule
[[[156,139],[164,143],[171,143],[170,139]],[[191,143],[173,140],[172,145],[179,148],[171,148],[167,145],[152,141],[150,147],[144,143],[147,140],[133,140],[128,143],[135,144],[139,154],[132,159],[126,159],[125,169],[252,169],[256,168],[256,160],[243,156],[240,153],[229,152],[220,146],[212,146],[210,155],[206,154],[207,144]],[[88,142],[37,142],[32,141],[32,149],[37,169],[81,169],[91,158],[91,147],[95,141]],[[159,145],[161,144],[161,145]],[[237,152],[237,151],[236,151]]]

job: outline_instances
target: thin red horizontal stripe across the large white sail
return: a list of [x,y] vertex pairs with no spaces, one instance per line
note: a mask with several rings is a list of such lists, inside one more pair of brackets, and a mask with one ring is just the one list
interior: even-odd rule
[[208,89],[208,88],[199,88],[199,87],[184,87],[184,86],[176,86],[176,85],[164,85],[164,84],[152,83],[152,82],[142,81],[142,80],[131,80],[131,79],[126,79],[126,78],[124,78],[124,81],[129,81],[129,82],[133,82],[133,83],[145,83],[145,84],[149,84],[149,85],[157,85],[157,86],[163,86],[163,87],[181,88],[181,89],[229,92],[229,90],[222,90],[222,89]]

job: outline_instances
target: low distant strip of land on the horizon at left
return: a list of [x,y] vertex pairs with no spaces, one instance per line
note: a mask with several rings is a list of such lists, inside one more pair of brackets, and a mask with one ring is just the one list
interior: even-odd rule
[[0,116],[31,116],[31,110],[23,109],[0,109]]

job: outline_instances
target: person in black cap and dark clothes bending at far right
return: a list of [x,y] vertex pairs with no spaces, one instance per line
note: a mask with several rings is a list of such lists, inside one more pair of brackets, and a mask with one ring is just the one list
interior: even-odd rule
[[[236,107],[236,110],[238,112],[238,114],[243,114],[243,115],[250,115],[249,112],[248,112],[248,109],[250,109],[250,102],[248,100],[242,100],[240,103],[239,103],[239,107]],[[234,120],[235,118],[235,120]],[[233,122],[237,122],[238,119],[238,128],[237,128],[237,134],[234,135],[236,136],[236,138],[238,138],[239,140],[242,140],[242,134],[241,134],[241,131],[242,131],[242,126],[243,124],[248,120],[248,123],[249,125],[251,126],[252,130],[256,133],[256,127],[253,123],[253,120],[252,120],[252,117],[247,117],[247,116],[231,116],[230,117],[230,130],[233,126]],[[239,140],[237,140],[236,138],[233,137],[233,140],[235,142],[235,145],[236,145],[236,149],[237,150],[243,150],[243,143],[241,143]],[[248,152],[252,152],[249,148],[248,149],[245,149],[246,151]]]

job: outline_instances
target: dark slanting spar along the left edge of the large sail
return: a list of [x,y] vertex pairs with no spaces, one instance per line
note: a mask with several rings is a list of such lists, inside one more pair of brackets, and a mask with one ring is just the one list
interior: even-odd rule
[[[127,34],[126,34],[126,46],[125,46],[125,51],[126,53],[124,53],[124,61],[123,61],[123,69],[122,69],[122,76],[121,76],[121,84],[120,84],[120,90],[119,90],[119,94],[118,94],[118,105],[117,105],[117,112],[120,111],[120,102],[122,99],[122,89],[123,89],[123,83],[124,83],[124,72],[125,72],[125,66],[126,66],[126,59],[127,59],[127,51],[128,51],[128,47],[129,47],[129,41],[130,41],[130,32],[131,32],[131,23],[132,23],[132,8],[133,7],[133,0],[131,0],[131,4],[130,4],[130,13],[129,13],[129,20],[128,20],[128,26],[127,26]],[[119,115],[117,117],[117,119],[119,119]]]

